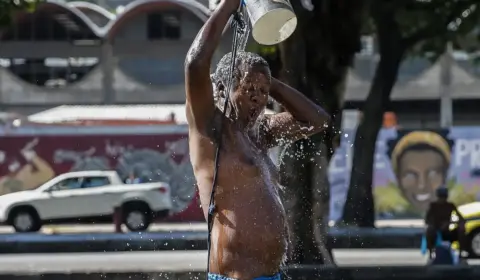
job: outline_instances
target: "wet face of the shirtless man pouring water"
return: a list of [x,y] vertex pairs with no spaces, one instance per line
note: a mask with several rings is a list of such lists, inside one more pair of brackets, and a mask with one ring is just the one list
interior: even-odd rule
[[241,122],[251,125],[263,112],[270,91],[270,70],[267,67],[248,68],[232,95],[232,103]]

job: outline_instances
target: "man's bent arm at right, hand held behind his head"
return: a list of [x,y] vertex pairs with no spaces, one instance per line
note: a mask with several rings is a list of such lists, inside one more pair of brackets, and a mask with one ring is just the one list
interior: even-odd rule
[[270,96],[283,105],[286,112],[265,116],[264,140],[269,148],[318,133],[330,121],[320,106],[275,78],[272,78]]

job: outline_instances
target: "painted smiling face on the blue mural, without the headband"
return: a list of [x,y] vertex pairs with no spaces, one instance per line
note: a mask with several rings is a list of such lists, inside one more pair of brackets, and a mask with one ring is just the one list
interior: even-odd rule
[[398,163],[398,184],[406,198],[419,210],[426,210],[435,190],[445,183],[444,159],[432,150],[413,150]]

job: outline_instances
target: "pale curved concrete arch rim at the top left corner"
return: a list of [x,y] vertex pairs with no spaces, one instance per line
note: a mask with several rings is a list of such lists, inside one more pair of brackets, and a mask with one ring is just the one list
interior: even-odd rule
[[[94,35],[94,37],[101,36],[101,30],[99,29],[99,27],[80,10],[63,3],[53,2],[51,0],[47,0],[45,2],[40,3],[38,7],[35,9],[35,12],[33,13],[29,13],[29,12],[16,13],[13,19],[13,23],[14,25],[20,25],[26,20],[28,20],[29,17],[31,17],[32,15],[40,14],[40,13],[42,14],[45,13],[52,16],[54,16],[57,13],[65,13],[69,17],[71,17],[75,22],[80,23],[82,27],[90,30],[92,32],[92,35]],[[6,32],[1,32],[0,40],[4,40],[5,35],[6,35]]]

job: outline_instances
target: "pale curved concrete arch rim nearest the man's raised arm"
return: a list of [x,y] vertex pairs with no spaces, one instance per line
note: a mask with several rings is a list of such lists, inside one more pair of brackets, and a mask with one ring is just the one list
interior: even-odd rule
[[135,18],[138,15],[171,7],[188,11],[195,15],[202,22],[205,22],[210,15],[210,10],[208,10],[207,7],[197,1],[137,0],[128,4],[125,7],[125,10],[121,14],[119,14],[115,20],[111,21],[107,26],[105,26],[105,37],[109,41],[113,40],[120,28],[122,26],[125,26],[131,19]]

